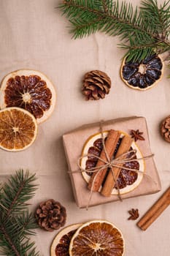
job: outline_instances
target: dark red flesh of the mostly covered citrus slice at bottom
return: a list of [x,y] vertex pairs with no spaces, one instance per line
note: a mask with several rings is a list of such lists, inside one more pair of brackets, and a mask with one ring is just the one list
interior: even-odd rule
[[55,247],[56,256],[69,256],[69,244],[75,232],[76,230],[72,230],[68,234],[61,237],[59,243]]

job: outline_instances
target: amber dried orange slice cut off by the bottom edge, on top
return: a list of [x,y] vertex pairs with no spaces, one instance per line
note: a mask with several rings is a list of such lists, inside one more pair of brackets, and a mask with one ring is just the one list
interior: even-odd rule
[[122,256],[123,253],[122,233],[112,223],[102,220],[78,228],[69,245],[70,256]]

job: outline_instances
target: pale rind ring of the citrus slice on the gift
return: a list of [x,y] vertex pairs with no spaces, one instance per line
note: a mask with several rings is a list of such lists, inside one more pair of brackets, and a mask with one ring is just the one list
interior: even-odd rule
[[[120,132],[121,132],[121,136],[127,135],[125,132],[122,132],[122,131],[120,131]],[[103,132],[103,135],[104,135],[104,138],[106,138],[107,135],[108,135],[108,131],[104,131],[104,132]],[[120,136],[120,137],[121,137],[121,136]],[[80,160],[80,166],[82,167],[83,170],[85,170],[86,161],[88,160],[88,157],[87,157],[87,155],[88,155],[88,149],[90,148],[90,146],[93,146],[93,143],[94,143],[98,138],[101,138],[101,132],[98,132],[98,133],[96,133],[96,134],[91,135],[91,136],[88,138],[88,140],[85,141],[85,144],[84,144],[84,146],[83,146],[83,148],[82,148],[82,155],[81,155],[81,156],[82,156],[82,159]],[[139,149],[139,146],[138,146],[135,142],[133,142],[131,146],[132,146],[133,149],[136,149],[136,157],[137,157],[137,159],[142,158],[143,156],[142,156],[142,152],[141,152],[140,149]],[[85,156],[85,157],[83,157],[83,156]],[[134,159],[134,160],[135,160],[135,159]],[[139,184],[140,184],[141,181],[142,181],[142,178],[143,178],[143,176],[144,176],[144,171],[145,171],[145,162],[144,162],[144,159],[142,159],[142,160],[139,161],[139,170],[140,170],[140,172],[138,172],[138,177],[137,177],[136,181],[135,181],[133,184],[131,184],[131,185],[126,185],[126,187],[120,189],[120,195],[123,195],[123,194],[126,194],[126,193],[128,193],[128,192],[131,192],[131,191],[133,191],[134,189],[136,189],[136,187],[139,186]],[[90,176],[89,176],[87,173],[82,172],[82,177],[85,179],[85,181],[86,181],[87,183],[90,181]],[[115,188],[112,189],[112,195],[118,195],[117,189],[115,189]]]

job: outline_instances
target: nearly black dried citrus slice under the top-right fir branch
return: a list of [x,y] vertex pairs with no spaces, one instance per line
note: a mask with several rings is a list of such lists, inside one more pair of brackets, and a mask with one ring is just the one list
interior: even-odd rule
[[125,84],[132,89],[151,89],[163,76],[163,60],[153,54],[143,61],[123,60],[120,75]]

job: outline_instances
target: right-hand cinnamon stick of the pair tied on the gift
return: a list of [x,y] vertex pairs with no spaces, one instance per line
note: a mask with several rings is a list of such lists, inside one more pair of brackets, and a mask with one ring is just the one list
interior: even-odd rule
[[[122,142],[120,143],[115,158],[120,157],[121,154],[128,152],[131,148],[132,141],[132,138],[130,138],[128,135],[125,135],[122,139]],[[101,195],[104,195],[105,197],[109,197],[111,195],[112,189],[115,186],[115,181],[117,181],[117,178],[120,174],[121,167],[122,165],[120,165],[120,167],[112,167],[112,170],[109,170],[107,179],[104,182],[104,187],[101,189]],[[115,174],[114,177],[112,175],[112,171]]]

